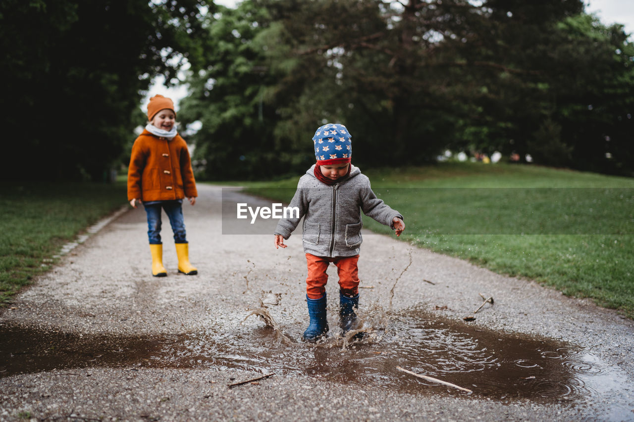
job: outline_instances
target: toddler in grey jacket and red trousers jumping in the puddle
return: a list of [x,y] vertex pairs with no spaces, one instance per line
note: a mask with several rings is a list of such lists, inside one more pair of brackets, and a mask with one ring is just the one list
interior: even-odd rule
[[390,226],[396,236],[405,229],[403,215],[378,199],[370,188],[370,179],[352,165],[350,138],[344,125],[326,124],[317,129],[313,136],[317,162],[299,179],[290,202],[290,207],[299,208],[299,218],[280,219],[275,229],[275,247],[286,248],[284,240],[304,217],[302,243],[308,266],[306,302],[310,324],[303,338],[310,342],[328,333],[325,286],[330,262],[337,266],[339,275],[342,333],[358,329],[355,309],[359,305],[357,262],[363,241],[361,211]]

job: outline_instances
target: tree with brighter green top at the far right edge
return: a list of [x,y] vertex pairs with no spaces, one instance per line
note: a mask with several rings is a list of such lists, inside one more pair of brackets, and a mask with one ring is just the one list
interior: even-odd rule
[[634,175],[634,45],[621,25],[588,15],[564,20],[559,30],[550,91],[560,142],[570,149],[564,164]]

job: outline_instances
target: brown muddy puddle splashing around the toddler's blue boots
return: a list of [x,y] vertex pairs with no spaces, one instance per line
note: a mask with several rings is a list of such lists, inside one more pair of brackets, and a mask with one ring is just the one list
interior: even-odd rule
[[[251,318],[257,314],[268,318],[264,309]],[[316,345],[297,342],[280,328],[271,328],[275,321],[270,318],[266,325],[253,329],[251,324],[237,333],[139,337],[77,336],[3,325],[0,376],[93,367],[240,368],[368,388],[469,395],[398,371],[396,366],[401,366],[500,400],[583,402],[592,395],[631,388],[618,369],[574,345],[489,331],[420,309],[392,314],[384,322],[363,341],[347,346],[335,334]]]

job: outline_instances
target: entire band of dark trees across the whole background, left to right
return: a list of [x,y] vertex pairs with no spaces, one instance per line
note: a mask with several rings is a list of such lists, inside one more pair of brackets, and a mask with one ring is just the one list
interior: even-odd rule
[[634,174],[634,47],[581,0],[7,0],[0,35],[5,179],[107,178],[185,62],[202,179],[303,172],[325,122],[360,166],[450,149]]

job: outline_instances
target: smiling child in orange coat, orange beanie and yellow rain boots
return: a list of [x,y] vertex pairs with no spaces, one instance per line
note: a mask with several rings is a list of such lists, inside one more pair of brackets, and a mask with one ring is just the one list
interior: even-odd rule
[[148,237],[152,254],[152,275],[167,276],[160,240],[161,209],[174,232],[178,272],[198,274],[190,264],[189,244],[183,220],[183,198],[194,205],[198,192],[187,143],[176,131],[176,112],[171,99],[150,98],[148,124],[132,146],[127,171],[127,200],[133,208],[142,203],[148,216]]

